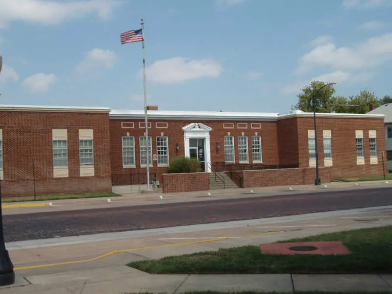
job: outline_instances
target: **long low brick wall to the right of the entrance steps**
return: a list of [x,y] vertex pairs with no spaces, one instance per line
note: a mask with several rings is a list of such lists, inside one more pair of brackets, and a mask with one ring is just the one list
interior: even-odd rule
[[[321,183],[331,182],[330,168],[319,168]],[[236,171],[233,180],[242,188],[314,184],[316,168]]]

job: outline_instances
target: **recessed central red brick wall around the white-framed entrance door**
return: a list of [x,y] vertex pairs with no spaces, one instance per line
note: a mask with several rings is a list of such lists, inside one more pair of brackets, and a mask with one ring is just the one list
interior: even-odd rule
[[[134,128],[122,128],[122,122],[133,122]],[[144,177],[146,168],[140,167],[140,145],[139,137],[144,136],[145,129],[139,128],[139,122],[144,123],[144,120],[122,120],[110,119],[110,148],[111,148],[111,165],[114,177],[121,174],[141,174]],[[149,120],[151,128],[148,129],[148,136],[152,138],[152,153],[156,151],[156,137],[169,137],[169,161],[177,156],[184,156],[184,132],[182,128],[190,123],[203,123],[213,130],[210,132],[210,147],[211,147],[211,161],[214,166],[216,162],[224,162],[224,142],[223,136],[230,132],[234,136],[234,151],[235,160],[238,162],[238,136],[244,133],[248,136],[248,154],[249,161],[252,162],[252,146],[251,136],[258,133],[262,137],[262,159],[264,164],[277,165],[279,163],[278,156],[278,141],[276,132],[276,122],[261,122],[261,121],[180,121],[180,120]],[[156,128],[157,122],[167,122],[168,128]],[[224,129],[223,123],[234,123],[234,129]],[[238,129],[237,123],[247,123],[247,129]],[[261,123],[261,129],[251,129],[251,123]],[[126,136],[127,132],[130,136],[135,137],[135,156],[136,168],[123,168],[123,151],[122,151],[122,136]],[[179,143],[180,149],[177,152],[176,144]],[[217,150],[217,143],[220,144],[220,149]],[[153,161],[153,167],[150,172],[157,173],[157,179],[161,180],[162,174],[167,172],[167,167],[157,167],[157,162]],[[120,176],[118,176],[120,178]],[[160,183],[161,184],[161,183]]]

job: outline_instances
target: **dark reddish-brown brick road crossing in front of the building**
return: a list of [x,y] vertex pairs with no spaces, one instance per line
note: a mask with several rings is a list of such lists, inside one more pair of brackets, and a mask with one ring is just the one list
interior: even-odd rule
[[392,205],[392,187],[3,216],[5,242]]

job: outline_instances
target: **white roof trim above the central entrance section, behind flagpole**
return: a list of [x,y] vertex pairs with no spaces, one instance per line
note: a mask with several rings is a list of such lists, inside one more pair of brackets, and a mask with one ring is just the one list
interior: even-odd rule
[[[143,110],[112,110],[111,119],[144,119]],[[220,111],[147,111],[148,119],[172,119],[172,120],[264,120],[276,121],[278,113],[264,112],[220,112]]]

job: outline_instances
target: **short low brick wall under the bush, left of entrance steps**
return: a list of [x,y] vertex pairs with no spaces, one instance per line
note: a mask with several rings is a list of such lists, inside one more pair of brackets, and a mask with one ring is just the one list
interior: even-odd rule
[[208,172],[164,173],[161,179],[163,193],[207,191],[210,189]]

